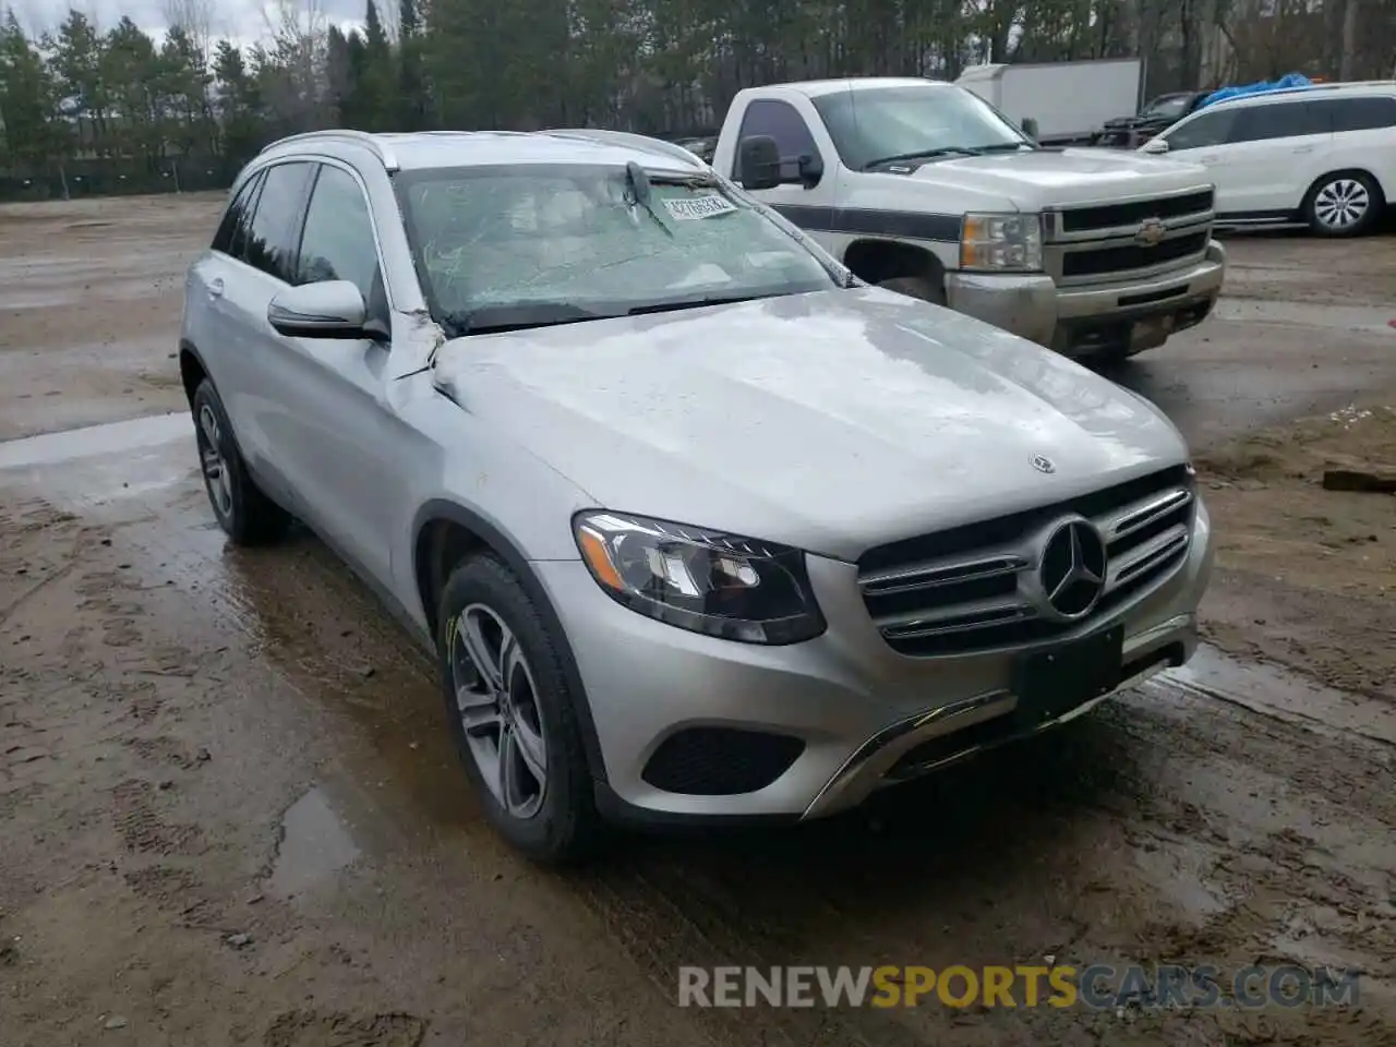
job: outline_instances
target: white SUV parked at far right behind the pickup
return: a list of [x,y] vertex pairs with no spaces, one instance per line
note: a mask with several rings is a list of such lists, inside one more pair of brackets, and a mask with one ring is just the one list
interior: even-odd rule
[[1396,81],[1322,84],[1216,102],[1141,152],[1202,163],[1217,225],[1371,232],[1396,194]]

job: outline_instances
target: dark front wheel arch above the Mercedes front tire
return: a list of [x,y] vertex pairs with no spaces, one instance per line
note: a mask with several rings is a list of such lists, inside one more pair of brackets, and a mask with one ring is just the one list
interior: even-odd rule
[[433,642],[441,625],[437,620],[441,592],[461,561],[477,553],[491,554],[518,578],[557,648],[568,691],[574,698],[574,713],[581,727],[591,776],[596,782],[606,782],[606,762],[582,674],[572,653],[572,639],[563,628],[563,620],[528,557],[498,528],[454,501],[433,500],[423,505],[417,511],[412,533],[412,570]]

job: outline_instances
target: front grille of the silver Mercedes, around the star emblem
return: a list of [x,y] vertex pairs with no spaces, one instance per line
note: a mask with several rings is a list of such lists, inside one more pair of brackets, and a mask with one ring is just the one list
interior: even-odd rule
[[[912,658],[1016,648],[1085,630],[1138,603],[1187,560],[1196,511],[1187,466],[1071,501],[878,546],[859,560],[863,603],[888,645]],[[1067,519],[1094,526],[1101,593],[1071,620],[1039,585],[1044,542]]]

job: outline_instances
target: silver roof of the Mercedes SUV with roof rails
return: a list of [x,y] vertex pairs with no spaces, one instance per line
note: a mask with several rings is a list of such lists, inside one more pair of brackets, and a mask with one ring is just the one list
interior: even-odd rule
[[491,165],[558,163],[620,166],[634,161],[649,170],[706,170],[681,145],[624,131],[593,128],[554,131],[416,131],[325,130],[281,138],[261,156],[367,149],[388,170],[424,170]]

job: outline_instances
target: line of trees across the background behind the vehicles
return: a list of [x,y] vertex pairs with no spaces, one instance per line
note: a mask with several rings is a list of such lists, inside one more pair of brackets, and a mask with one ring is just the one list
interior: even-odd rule
[[0,197],[226,186],[267,142],[334,126],[695,134],[743,87],[986,60],[1138,54],[1149,94],[1396,75],[1396,0],[367,0],[348,32],[279,0],[243,47],[212,11],[168,0],[159,40],[6,11]]

